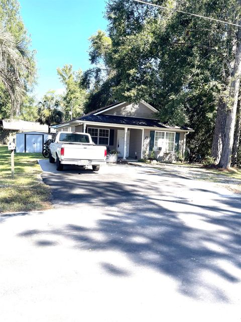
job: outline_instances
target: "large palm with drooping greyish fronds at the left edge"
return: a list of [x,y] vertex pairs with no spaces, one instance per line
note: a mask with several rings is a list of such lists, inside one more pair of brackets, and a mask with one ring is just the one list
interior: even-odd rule
[[0,82],[11,98],[11,116],[19,111],[26,92],[26,76],[31,76],[33,70],[26,43],[0,28]]

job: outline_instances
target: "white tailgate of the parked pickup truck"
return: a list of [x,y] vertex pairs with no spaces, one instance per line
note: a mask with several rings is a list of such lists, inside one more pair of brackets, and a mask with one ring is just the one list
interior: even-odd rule
[[64,159],[103,160],[105,146],[64,144]]

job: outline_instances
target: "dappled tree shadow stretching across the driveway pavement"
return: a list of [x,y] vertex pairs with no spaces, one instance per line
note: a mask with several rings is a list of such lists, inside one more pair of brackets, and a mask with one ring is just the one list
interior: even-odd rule
[[[67,175],[61,180],[52,175],[44,179],[53,189],[55,204],[63,205],[66,200],[74,207],[89,206],[84,216],[91,216],[91,209],[104,211],[104,218],[96,219],[96,225],[66,224],[61,229],[36,228],[20,235],[38,234],[41,238],[43,233],[51,235],[51,240],[61,236],[72,240],[75,249],[121,253],[133,263],[132,270],[135,266],[145,267],[171,277],[178,282],[178,291],[186,296],[230,301],[222,283],[240,282],[236,274],[241,268],[238,199],[205,188],[188,188],[184,182],[172,182],[173,191],[179,195],[174,192],[170,196],[167,187],[153,187],[152,178],[143,179],[141,187],[139,179],[130,179],[127,184],[98,178],[69,182]],[[167,178],[162,178],[162,184],[165,180],[168,183]],[[197,197],[194,201],[190,197],[193,191]],[[96,239],[99,234],[102,238]],[[110,263],[100,265],[115,276],[131,274]]]

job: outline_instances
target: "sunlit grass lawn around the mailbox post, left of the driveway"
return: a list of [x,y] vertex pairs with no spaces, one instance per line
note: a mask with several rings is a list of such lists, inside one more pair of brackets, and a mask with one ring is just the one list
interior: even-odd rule
[[50,189],[42,183],[37,159],[41,153],[15,153],[11,178],[11,151],[0,145],[0,212],[42,210],[51,206]]

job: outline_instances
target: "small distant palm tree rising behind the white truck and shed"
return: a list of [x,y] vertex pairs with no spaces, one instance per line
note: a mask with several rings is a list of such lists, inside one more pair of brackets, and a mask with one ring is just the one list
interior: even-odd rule
[[48,133],[50,134],[50,126],[62,122],[63,113],[60,110],[60,101],[55,97],[54,91],[47,92],[43,100],[38,104],[38,119],[40,124],[47,124],[49,127]]

